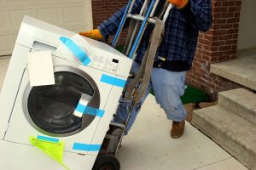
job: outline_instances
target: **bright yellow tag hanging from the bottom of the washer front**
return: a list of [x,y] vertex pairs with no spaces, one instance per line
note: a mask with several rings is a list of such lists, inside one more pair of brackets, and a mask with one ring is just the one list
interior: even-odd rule
[[37,139],[35,137],[29,137],[31,144],[36,146],[38,149],[42,150],[46,155],[50,156],[52,159],[61,164],[61,166],[69,169],[63,164],[63,150],[64,150],[64,142],[49,142]]

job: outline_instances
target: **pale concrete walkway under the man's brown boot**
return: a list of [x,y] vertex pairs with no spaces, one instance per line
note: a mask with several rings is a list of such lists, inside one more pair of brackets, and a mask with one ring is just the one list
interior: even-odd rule
[[[8,63],[0,58],[0,89]],[[121,170],[247,170],[189,123],[181,139],[171,139],[171,124],[154,96],[148,96],[119,150]]]

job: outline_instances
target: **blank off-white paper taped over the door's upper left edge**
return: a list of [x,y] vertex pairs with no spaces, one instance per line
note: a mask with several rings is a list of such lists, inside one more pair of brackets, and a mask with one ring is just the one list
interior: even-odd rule
[[50,51],[39,51],[27,54],[27,67],[32,87],[55,84],[52,55]]

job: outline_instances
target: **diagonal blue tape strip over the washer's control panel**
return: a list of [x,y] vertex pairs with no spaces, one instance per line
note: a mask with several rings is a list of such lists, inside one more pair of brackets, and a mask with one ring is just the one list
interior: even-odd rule
[[79,48],[79,46],[73,42],[73,40],[67,38],[67,37],[60,37],[61,42],[63,42],[67,48],[76,56],[79,58],[79,60],[83,63],[83,65],[89,65],[90,64],[90,58],[87,54],[85,54],[84,50]]

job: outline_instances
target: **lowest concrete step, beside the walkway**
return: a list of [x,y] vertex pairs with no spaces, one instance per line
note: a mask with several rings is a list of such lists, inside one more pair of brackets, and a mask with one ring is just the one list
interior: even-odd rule
[[215,105],[194,111],[192,123],[247,167],[256,169],[256,125]]

